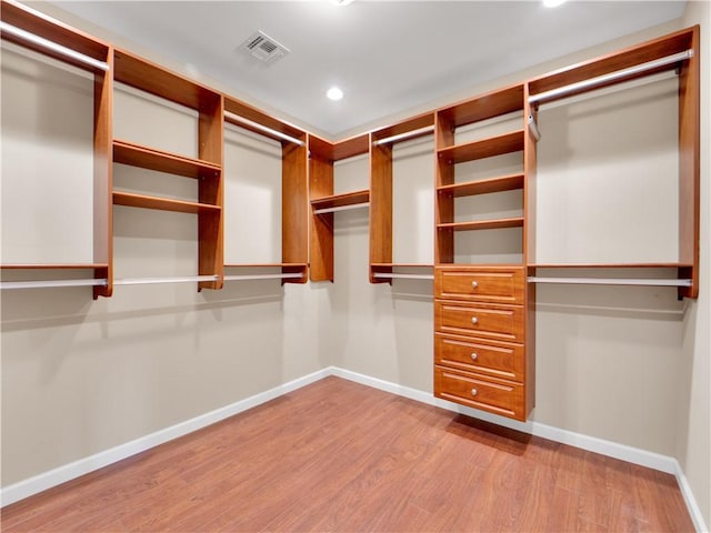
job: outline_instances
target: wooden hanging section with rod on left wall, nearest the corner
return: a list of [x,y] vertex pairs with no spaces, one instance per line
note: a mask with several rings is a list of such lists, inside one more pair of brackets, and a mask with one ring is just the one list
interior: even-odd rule
[[[306,283],[309,262],[308,148],[306,132],[251,105],[224,97],[224,120],[281,143],[281,263],[226,264],[226,266],[279,268],[283,283]],[[241,118],[243,120],[238,120]]]

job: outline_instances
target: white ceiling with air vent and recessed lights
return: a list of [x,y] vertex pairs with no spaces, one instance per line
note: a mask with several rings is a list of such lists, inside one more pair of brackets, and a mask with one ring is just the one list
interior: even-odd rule
[[[683,13],[681,1],[56,1],[332,138]],[[238,52],[262,30],[291,52]],[[340,102],[326,99],[341,87]]]

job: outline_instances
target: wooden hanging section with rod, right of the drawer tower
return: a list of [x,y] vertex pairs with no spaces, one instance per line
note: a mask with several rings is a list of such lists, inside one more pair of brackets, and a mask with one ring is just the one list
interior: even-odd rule
[[[687,53],[689,52],[689,53]],[[677,58],[677,59],[675,59]],[[554,102],[615,83],[665,70],[679,74],[679,261],[675,263],[542,264],[535,260],[533,232],[529,232],[529,273],[545,269],[675,269],[680,298],[699,295],[699,175],[700,175],[700,62],[699,27],[630,47],[598,59],[535,78],[528,83],[530,112],[539,104]],[[534,168],[534,164],[533,164]],[[535,204],[531,188],[527,202]]]

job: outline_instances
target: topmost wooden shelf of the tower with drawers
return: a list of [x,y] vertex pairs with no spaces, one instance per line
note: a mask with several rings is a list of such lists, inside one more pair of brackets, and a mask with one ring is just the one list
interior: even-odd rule
[[451,128],[459,128],[522,109],[523,84],[519,83],[440,109],[438,117]]

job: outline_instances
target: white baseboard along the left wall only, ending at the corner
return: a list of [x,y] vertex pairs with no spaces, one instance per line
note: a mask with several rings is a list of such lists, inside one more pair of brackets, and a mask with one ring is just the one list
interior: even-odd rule
[[67,481],[71,481],[76,477],[93,472],[94,470],[102,469],[103,466],[108,466],[109,464],[130,457],[131,455],[136,455],[137,453],[150,450],[159,444],[163,444],[179,436],[192,433],[193,431],[198,431],[210,424],[214,424],[216,422],[220,422],[221,420],[241,413],[242,411],[256,408],[257,405],[296,391],[304,385],[322,380],[329,374],[330,369],[319,370],[318,372],[313,372],[282,385],[274,386],[268,391],[254,394],[253,396],[240,400],[231,405],[216,409],[214,411],[201,414],[194,419],[190,419],[176,425],[171,425],[170,428],[159,430],[149,435],[141,436],[134,441],[120,444],[110,450],[96,453],[88,457],[80,459],[79,461],[74,461],[73,463],[64,464],[50,470],[49,472],[8,485],[0,492],[1,505],[4,506],[18,502],[39,492],[66,483]]

